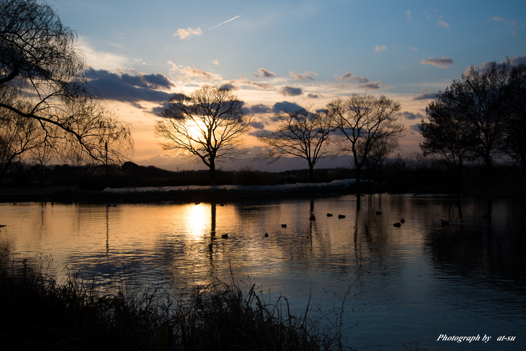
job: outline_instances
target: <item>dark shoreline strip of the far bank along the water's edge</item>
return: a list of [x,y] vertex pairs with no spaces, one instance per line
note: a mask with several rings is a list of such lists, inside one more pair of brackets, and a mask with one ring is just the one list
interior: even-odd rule
[[[517,179],[508,179],[508,182],[497,182],[495,179],[472,182],[464,187],[463,191],[456,194],[451,188],[440,185],[420,185],[414,184],[413,187],[388,187],[382,183],[375,183],[369,187],[367,184],[356,187],[355,184],[347,184],[347,187],[323,188],[320,184],[330,183],[297,183],[286,184],[295,187],[297,185],[312,185],[310,188],[290,188],[281,191],[242,191],[227,189],[236,187],[235,185],[186,185],[177,188],[190,190],[168,190],[158,191],[163,187],[151,187],[148,191],[130,191],[110,193],[101,190],[57,190],[48,193],[45,189],[38,188],[0,188],[0,203],[18,202],[57,202],[57,203],[147,203],[147,202],[225,202],[245,199],[294,199],[294,198],[318,198],[328,196],[356,195],[356,194],[414,194],[414,195],[433,195],[449,197],[474,197],[474,198],[526,198],[525,187]],[[244,186],[246,189],[255,188],[279,188],[286,185],[252,185]],[[241,188],[241,186],[238,186]],[[174,187],[166,187],[174,188]],[[108,188],[106,188],[108,189]],[[140,188],[123,188],[140,189]],[[146,189],[146,188],[143,188]]]

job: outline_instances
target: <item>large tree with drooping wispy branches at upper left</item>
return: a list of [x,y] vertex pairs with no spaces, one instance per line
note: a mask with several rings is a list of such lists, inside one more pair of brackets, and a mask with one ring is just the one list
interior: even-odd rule
[[129,126],[88,87],[76,33],[46,3],[0,0],[0,11],[0,109],[36,123],[66,159],[103,162],[105,143],[127,159]]

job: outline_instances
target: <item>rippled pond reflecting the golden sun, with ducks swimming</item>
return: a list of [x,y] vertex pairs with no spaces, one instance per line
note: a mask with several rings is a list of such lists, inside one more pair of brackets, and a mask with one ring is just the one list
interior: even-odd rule
[[187,289],[232,275],[271,301],[286,296],[299,314],[309,296],[311,306],[340,306],[361,272],[345,301],[352,347],[404,350],[418,341],[429,351],[526,349],[523,199],[2,203],[0,213],[0,245],[10,252],[52,257],[106,286],[127,275],[140,286]]

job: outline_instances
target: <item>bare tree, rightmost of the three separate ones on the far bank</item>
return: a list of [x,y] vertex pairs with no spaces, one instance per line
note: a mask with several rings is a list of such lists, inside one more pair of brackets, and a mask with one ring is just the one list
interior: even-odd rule
[[400,102],[367,93],[352,94],[345,101],[337,98],[327,105],[340,137],[339,152],[354,157],[357,185],[365,165],[378,163],[398,148],[398,140],[406,130],[400,123],[400,108]]

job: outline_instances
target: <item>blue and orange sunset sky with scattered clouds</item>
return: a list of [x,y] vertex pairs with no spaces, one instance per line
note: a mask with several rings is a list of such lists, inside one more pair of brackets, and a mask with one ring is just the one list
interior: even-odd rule
[[[425,108],[471,65],[526,63],[523,1],[56,0],[78,33],[90,85],[132,125],[134,160],[177,163],[154,136],[168,98],[228,86],[272,130],[282,108],[357,92],[401,102],[403,151],[418,151]],[[249,154],[250,156],[250,154]]]

